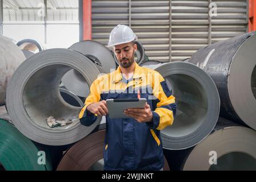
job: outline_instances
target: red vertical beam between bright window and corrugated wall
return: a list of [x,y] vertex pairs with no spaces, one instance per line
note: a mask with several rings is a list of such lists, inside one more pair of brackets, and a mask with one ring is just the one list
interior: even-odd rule
[[91,40],[91,0],[83,0],[83,40]]

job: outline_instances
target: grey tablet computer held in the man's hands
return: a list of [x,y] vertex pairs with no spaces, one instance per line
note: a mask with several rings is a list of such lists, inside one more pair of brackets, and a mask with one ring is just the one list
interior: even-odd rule
[[111,98],[107,99],[107,109],[109,110],[109,118],[131,118],[123,113],[123,110],[129,108],[143,109],[146,106],[146,98]]

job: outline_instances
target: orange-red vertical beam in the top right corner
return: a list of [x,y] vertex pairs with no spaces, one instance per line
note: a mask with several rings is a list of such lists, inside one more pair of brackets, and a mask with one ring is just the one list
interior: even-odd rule
[[256,0],[249,0],[248,31],[256,31]]

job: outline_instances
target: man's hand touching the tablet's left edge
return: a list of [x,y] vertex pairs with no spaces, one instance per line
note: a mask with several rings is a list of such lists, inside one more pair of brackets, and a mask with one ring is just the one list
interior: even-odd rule
[[87,110],[98,116],[107,115],[109,113],[107,110],[107,102],[104,100],[90,104],[87,106]]

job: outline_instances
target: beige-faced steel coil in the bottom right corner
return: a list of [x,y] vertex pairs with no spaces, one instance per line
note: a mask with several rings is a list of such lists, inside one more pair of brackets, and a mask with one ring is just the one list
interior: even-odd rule
[[219,118],[213,132],[187,150],[165,150],[176,170],[256,170],[256,132]]

